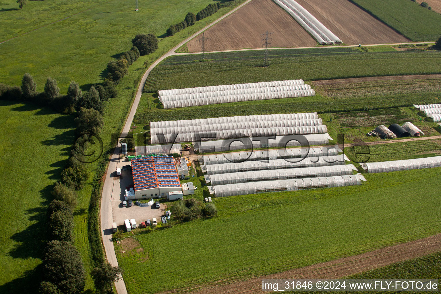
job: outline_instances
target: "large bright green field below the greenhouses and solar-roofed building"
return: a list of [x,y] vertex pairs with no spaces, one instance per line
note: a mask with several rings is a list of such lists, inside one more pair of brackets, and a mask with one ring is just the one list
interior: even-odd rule
[[[116,244],[118,261],[129,292],[155,293],[423,238],[439,232],[440,173],[433,168],[374,174],[362,186],[215,198],[218,217],[137,235],[141,243],[126,253]],[[197,192],[201,199],[204,192]],[[262,240],[271,250],[262,249]]]

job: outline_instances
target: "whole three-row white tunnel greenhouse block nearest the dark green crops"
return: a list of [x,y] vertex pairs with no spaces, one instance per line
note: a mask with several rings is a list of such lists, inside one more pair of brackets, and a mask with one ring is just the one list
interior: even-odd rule
[[190,107],[250,100],[314,96],[303,80],[235,84],[158,91],[164,108]]

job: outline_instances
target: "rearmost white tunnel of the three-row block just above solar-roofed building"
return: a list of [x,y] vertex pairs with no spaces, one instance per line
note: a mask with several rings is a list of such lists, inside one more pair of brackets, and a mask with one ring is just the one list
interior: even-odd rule
[[187,127],[187,126],[205,126],[224,123],[246,123],[246,122],[264,122],[274,120],[299,120],[299,119],[318,119],[317,112],[307,113],[284,113],[284,114],[263,114],[263,115],[241,115],[214,117],[209,119],[186,119],[186,120],[168,120],[162,122],[150,122],[150,129],[165,127]]

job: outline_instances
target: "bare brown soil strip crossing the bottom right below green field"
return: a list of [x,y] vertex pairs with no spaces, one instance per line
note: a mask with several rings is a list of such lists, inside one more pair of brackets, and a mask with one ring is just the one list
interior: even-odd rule
[[276,274],[253,277],[245,281],[225,283],[219,280],[190,289],[179,289],[164,292],[185,294],[251,294],[262,292],[262,279],[339,279],[348,275],[381,268],[400,261],[422,257],[441,251],[441,234],[427,238],[400,243],[374,251],[343,257],[333,261],[295,268]]

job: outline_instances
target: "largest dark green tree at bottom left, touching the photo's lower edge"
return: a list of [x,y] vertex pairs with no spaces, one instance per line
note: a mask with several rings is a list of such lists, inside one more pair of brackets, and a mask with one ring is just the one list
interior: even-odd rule
[[82,292],[86,272],[78,250],[66,241],[48,243],[44,260],[45,280],[54,284],[63,294]]

